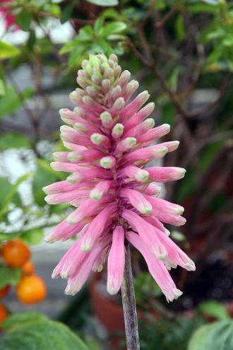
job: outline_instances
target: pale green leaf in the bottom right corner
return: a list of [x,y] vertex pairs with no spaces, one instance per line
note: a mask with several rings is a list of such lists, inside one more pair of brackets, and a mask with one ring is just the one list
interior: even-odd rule
[[233,321],[225,320],[204,325],[191,337],[188,350],[233,349]]

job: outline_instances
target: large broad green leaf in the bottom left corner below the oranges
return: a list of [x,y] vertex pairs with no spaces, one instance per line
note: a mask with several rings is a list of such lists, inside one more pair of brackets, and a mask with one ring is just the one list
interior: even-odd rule
[[[29,314],[29,313],[28,313]],[[13,316],[8,318],[11,322]],[[41,319],[35,313],[32,316],[20,316],[16,327],[0,339],[0,350],[88,350],[83,341],[60,322]],[[5,327],[7,323],[5,322]]]

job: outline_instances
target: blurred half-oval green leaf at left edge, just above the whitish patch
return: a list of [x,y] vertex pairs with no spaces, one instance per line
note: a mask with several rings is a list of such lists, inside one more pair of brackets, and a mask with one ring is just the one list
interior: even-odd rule
[[22,134],[7,132],[1,135],[0,149],[4,150],[8,148],[30,148],[30,141]]

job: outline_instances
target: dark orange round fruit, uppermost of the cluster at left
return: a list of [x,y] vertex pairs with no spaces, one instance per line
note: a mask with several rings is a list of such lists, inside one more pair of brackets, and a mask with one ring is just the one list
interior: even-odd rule
[[11,267],[20,267],[30,258],[30,249],[19,238],[9,240],[2,248],[2,258]]

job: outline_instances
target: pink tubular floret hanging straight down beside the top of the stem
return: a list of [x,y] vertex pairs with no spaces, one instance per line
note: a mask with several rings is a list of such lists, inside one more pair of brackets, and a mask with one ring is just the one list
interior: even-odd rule
[[112,233],[112,247],[107,259],[107,291],[117,294],[124,275],[125,250],[124,228],[117,226]]

